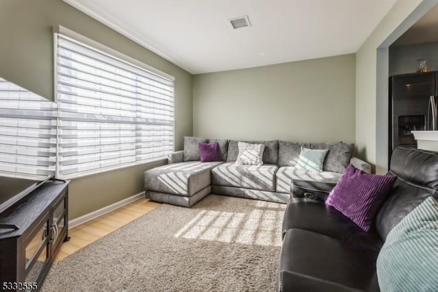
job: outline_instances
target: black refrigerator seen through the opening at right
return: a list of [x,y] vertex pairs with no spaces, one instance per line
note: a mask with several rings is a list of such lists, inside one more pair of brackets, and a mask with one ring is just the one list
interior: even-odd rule
[[437,129],[437,71],[389,77],[389,158],[398,146],[417,147],[411,131]]

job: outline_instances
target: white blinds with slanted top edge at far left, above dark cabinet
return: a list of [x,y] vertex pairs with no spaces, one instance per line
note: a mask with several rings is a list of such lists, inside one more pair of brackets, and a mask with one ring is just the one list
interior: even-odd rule
[[0,78],[0,175],[55,174],[56,104]]

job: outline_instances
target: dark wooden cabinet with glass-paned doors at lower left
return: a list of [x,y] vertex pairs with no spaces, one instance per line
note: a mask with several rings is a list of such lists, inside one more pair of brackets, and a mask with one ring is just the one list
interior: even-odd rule
[[68,182],[39,186],[2,214],[0,223],[18,227],[0,230],[0,289],[38,291],[68,240]]

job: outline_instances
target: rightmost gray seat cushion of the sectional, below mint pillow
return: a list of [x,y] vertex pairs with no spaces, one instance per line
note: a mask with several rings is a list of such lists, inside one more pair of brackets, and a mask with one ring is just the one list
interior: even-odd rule
[[336,183],[342,174],[330,171],[306,171],[296,167],[280,167],[276,172],[276,192],[290,193],[292,180],[315,180]]

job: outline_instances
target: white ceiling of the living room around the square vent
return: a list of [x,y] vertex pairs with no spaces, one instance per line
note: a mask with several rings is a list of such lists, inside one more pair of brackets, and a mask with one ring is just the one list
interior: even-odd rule
[[396,0],[64,1],[197,74],[355,53]]

